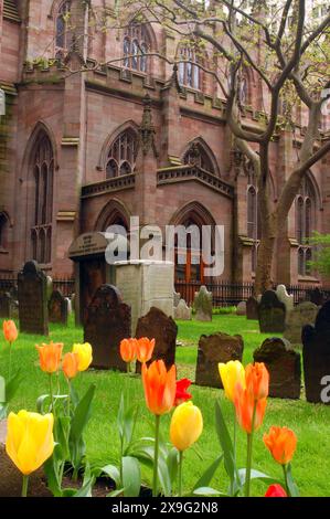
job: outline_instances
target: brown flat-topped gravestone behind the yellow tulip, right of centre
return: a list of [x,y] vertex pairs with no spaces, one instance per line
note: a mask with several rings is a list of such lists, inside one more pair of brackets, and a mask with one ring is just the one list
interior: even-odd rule
[[244,342],[238,335],[216,332],[201,336],[198,350],[195,383],[209,388],[223,388],[219,374],[219,362],[242,361]]

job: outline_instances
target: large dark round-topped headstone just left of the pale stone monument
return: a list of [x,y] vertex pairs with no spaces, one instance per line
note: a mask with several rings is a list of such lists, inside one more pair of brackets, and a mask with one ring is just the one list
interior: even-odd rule
[[102,285],[86,309],[84,341],[93,346],[95,368],[126,371],[119,345],[130,337],[130,306],[113,285]]

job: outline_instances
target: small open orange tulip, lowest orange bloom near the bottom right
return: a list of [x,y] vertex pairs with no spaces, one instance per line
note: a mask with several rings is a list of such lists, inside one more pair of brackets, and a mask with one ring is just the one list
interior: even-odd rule
[[286,465],[292,459],[297,446],[297,436],[294,431],[273,425],[269,433],[264,434],[263,439],[275,462]]

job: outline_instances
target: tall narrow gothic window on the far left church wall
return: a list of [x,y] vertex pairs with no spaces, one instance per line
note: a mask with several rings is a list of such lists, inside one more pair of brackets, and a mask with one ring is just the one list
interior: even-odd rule
[[51,263],[54,153],[47,135],[42,131],[36,140],[31,160],[33,179],[33,215],[31,248],[33,260]]

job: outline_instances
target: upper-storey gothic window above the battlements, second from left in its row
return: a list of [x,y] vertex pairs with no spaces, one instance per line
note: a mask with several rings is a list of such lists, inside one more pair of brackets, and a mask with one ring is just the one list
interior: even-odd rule
[[146,54],[150,49],[151,41],[147,25],[131,22],[124,35],[124,66],[134,71],[149,72],[149,60]]

